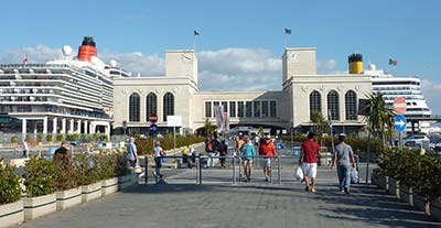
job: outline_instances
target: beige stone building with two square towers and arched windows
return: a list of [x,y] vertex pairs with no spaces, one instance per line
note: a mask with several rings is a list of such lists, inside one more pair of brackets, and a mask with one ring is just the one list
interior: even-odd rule
[[[149,115],[166,129],[166,116],[181,116],[181,132],[195,132],[206,119],[215,122],[214,107],[223,106],[230,128],[262,126],[271,130],[308,131],[310,116],[329,113],[336,132],[357,131],[358,100],[372,94],[368,75],[318,75],[315,48],[287,48],[282,56],[281,91],[201,91],[193,51],[166,51],[165,75],[115,79],[114,133],[149,132]],[[272,132],[271,132],[272,133]]]

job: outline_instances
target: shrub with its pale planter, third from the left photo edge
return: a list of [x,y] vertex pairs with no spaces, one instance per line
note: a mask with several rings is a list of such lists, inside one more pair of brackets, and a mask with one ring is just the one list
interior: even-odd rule
[[55,166],[56,209],[63,210],[82,203],[82,188],[78,180],[78,165],[57,156]]

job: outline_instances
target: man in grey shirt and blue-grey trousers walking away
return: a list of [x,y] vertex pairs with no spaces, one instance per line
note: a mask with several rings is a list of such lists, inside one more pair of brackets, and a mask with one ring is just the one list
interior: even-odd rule
[[354,152],[351,145],[345,142],[346,135],[338,135],[338,144],[335,146],[332,169],[337,167],[340,192],[349,194],[351,192],[351,162],[352,167],[355,167]]

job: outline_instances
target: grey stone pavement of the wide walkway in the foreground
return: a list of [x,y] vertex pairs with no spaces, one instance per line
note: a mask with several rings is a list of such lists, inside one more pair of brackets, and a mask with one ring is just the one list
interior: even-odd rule
[[335,172],[325,167],[319,170],[315,194],[297,182],[266,183],[260,170],[251,183],[237,185],[218,181],[230,177],[230,170],[208,171],[201,186],[194,184],[194,170],[181,170],[168,185],[138,185],[20,227],[441,227],[375,186],[337,192]]

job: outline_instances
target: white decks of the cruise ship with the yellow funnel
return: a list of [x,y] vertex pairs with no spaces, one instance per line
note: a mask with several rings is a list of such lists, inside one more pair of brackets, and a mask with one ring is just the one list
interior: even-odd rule
[[365,75],[372,76],[373,94],[383,94],[386,105],[392,107],[396,97],[404,97],[407,102],[407,110],[404,113],[407,118],[430,117],[431,110],[426,102],[421,91],[421,80],[416,76],[395,77],[376,69],[374,64],[364,70]]

